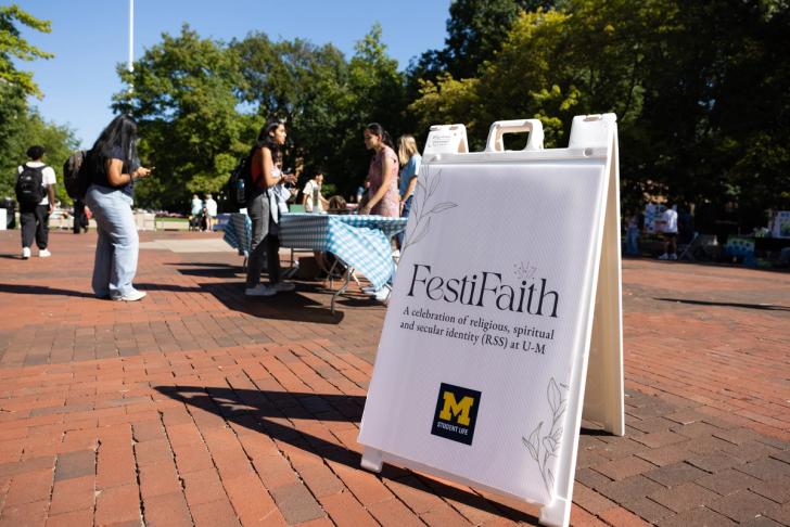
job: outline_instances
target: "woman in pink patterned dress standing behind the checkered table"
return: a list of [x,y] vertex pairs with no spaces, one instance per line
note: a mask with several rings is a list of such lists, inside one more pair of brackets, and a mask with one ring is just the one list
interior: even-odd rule
[[372,214],[397,218],[400,216],[398,194],[398,156],[392,138],[378,123],[365,127],[365,146],[375,154],[368,169],[368,202],[359,214]]

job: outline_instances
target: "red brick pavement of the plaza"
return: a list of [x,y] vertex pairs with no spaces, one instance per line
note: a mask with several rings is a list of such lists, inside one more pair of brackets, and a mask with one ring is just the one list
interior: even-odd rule
[[[144,241],[206,239],[145,233]],[[94,236],[0,232],[0,525],[535,524],[533,506],[359,468],[384,308],[249,301],[232,253],[143,249],[89,296]],[[790,274],[624,264],[626,423],[586,423],[573,525],[790,525]]]

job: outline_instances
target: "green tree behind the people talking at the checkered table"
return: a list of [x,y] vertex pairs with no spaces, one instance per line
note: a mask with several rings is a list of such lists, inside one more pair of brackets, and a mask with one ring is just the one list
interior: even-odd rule
[[349,61],[333,46],[272,42],[263,34],[231,44],[244,77],[242,101],[255,106],[262,121],[269,116],[288,121],[285,163],[308,172],[321,166],[344,194],[367,173],[362,127],[379,121],[400,130],[406,117],[404,77],[381,37],[377,24]]

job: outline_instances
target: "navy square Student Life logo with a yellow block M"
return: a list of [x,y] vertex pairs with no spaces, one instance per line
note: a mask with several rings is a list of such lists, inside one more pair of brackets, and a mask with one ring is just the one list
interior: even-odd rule
[[480,391],[442,383],[431,434],[472,445],[480,408]]

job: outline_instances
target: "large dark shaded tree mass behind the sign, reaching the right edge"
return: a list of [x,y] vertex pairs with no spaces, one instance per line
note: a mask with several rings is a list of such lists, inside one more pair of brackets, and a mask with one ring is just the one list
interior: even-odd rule
[[790,206],[787,2],[556,8],[520,14],[473,78],[422,79],[410,106],[422,127],[467,123],[480,147],[493,120],[537,117],[561,146],[574,115],[614,112],[629,204],[646,193],[729,204],[744,227]]

